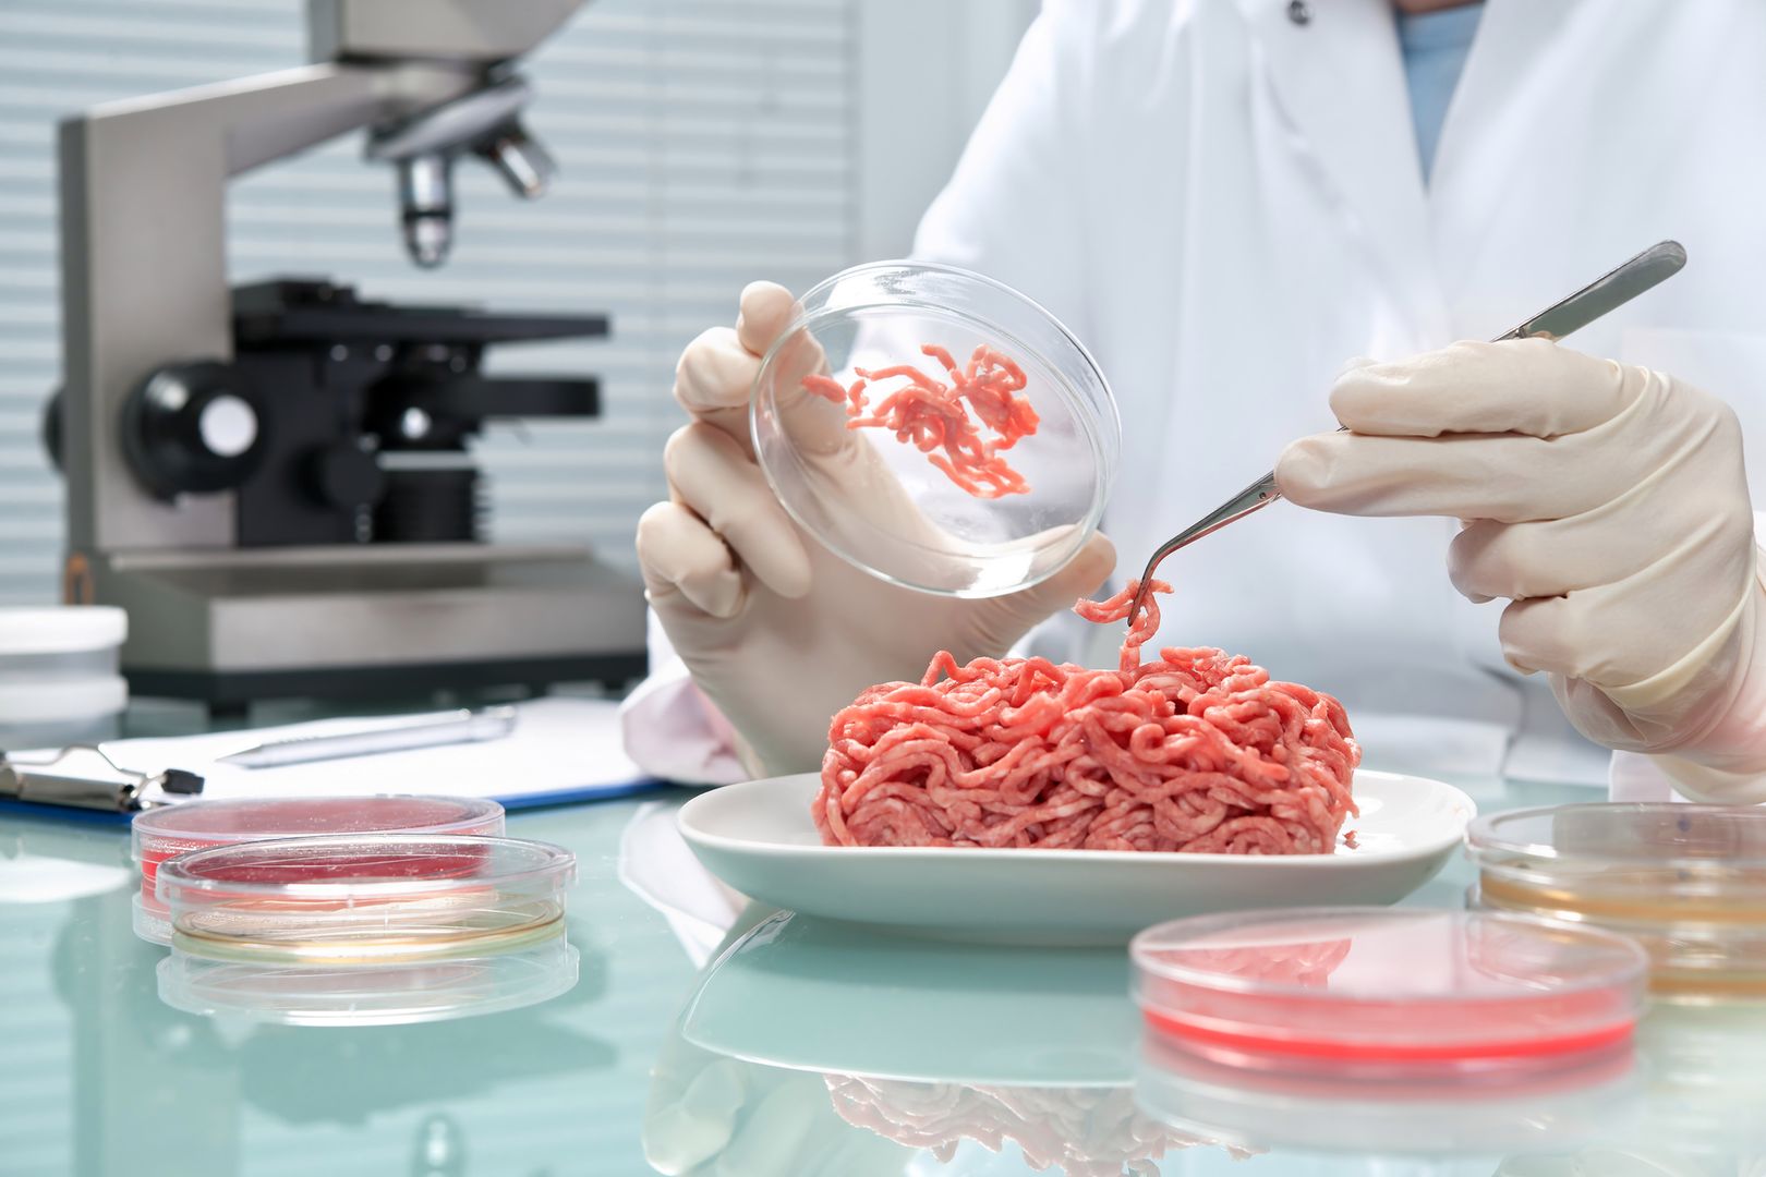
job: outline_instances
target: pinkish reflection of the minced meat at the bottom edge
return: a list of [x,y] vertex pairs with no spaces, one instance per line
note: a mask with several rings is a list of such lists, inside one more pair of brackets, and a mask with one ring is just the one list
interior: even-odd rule
[[[857,1075],[825,1075],[834,1110],[911,1149],[931,1149],[948,1165],[975,1140],[1000,1152],[1015,1142],[1037,1172],[1067,1177],[1158,1177],[1167,1151],[1213,1143],[1141,1115],[1123,1087],[964,1087]],[[1238,1149],[1234,1158],[1249,1156]]]

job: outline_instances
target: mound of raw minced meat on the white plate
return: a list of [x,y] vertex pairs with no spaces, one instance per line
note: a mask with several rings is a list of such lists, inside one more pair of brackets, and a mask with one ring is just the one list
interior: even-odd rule
[[[1120,621],[1136,588],[1075,612]],[[1330,854],[1362,759],[1342,704],[1219,649],[1143,663],[1157,630],[1150,596],[1116,671],[940,651],[865,690],[828,729],[823,842]]]

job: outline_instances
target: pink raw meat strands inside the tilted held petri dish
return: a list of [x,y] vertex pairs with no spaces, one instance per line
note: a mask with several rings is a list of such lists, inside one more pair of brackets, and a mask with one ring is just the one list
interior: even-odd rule
[[[897,364],[853,369],[857,379],[851,386],[832,376],[805,376],[804,388],[842,406],[848,429],[888,429],[897,441],[918,448],[932,466],[975,498],[998,499],[1030,491],[1023,475],[1000,457],[1037,432],[1037,411],[1028,399],[1015,395],[1030,383],[1024,369],[987,344],[975,349],[966,367],[957,367],[950,351],[938,344],[922,344],[920,351],[943,365],[950,376],[948,385],[911,364]],[[885,394],[872,408],[872,386],[888,379],[908,383]],[[996,434],[992,441],[982,439],[980,429],[970,420],[971,409]]]

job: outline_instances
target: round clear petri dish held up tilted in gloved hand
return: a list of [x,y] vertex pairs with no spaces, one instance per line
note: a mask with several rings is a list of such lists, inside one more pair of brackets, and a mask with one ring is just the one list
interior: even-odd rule
[[[805,390],[805,378],[849,388],[862,371],[897,365],[950,383],[925,346],[959,367],[985,346],[1023,371],[1015,395],[1037,427],[998,452],[1023,491],[978,498],[931,461],[945,450],[849,429],[846,406]],[[904,383],[871,379],[871,408]],[[1012,593],[1061,568],[1097,531],[1121,446],[1104,374],[1053,314],[980,274],[917,261],[855,266],[804,295],[761,360],[751,429],[766,480],[805,531],[876,577],[952,596]],[[985,424],[978,436],[1000,439]]]

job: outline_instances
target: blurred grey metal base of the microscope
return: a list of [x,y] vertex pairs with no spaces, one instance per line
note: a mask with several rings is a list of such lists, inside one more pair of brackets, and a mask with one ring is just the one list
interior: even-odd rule
[[645,672],[643,586],[570,545],[117,552],[92,598],[129,612],[140,695],[424,697]]

